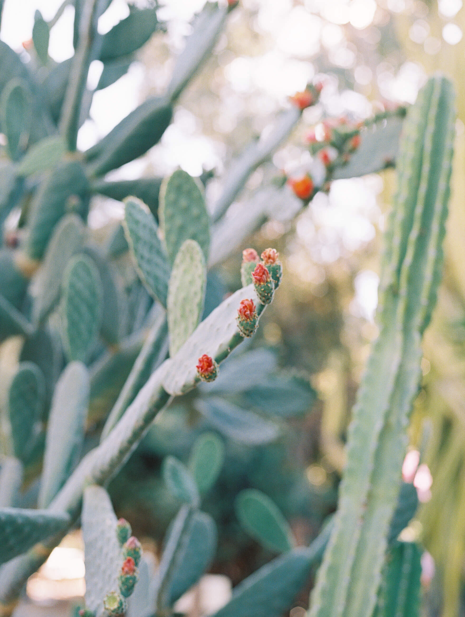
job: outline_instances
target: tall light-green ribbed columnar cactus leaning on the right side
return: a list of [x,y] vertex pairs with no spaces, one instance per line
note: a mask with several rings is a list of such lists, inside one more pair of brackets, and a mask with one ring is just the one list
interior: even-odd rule
[[380,334],[353,410],[335,528],[310,617],[369,617],[374,609],[421,375],[421,336],[442,266],[454,123],[452,86],[433,77],[404,125],[380,282]]

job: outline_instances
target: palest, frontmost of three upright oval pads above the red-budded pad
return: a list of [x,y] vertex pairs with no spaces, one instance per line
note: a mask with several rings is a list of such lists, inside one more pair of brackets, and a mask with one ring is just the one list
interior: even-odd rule
[[174,260],[168,288],[167,312],[170,356],[186,342],[202,315],[206,289],[206,266],[195,240],[186,240]]

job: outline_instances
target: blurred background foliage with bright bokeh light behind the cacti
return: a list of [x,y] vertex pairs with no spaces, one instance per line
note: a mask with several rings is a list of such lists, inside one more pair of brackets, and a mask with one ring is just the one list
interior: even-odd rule
[[[40,8],[44,19],[51,19],[56,9],[48,0],[43,6],[24,4],[23,15],[12,0],[4,6],[0,36],[14,49],[30,38],[29,4]],[[127,75],[96,93],[90,119],[78,135],[80,149],[91,146],[148,94],[163,91],[173,56],[203,4],[161,2],[164,31],[138,53]],[[57,61],[67,54],[60,41],[72,25],[72,11],[66,7],[52,30],[63,32],[61,39],[51,39],[50,54]],[[127,12],[125,2],[114,0],[99,28],[109,30]],[[32,23],[33,10],[30,31]],[[211,172],[205,177],[212,202],[224,168],[266,130],[288,96],[320,75],[325,83],[320,104],[304,112],[273,164],[254,172],[240,196],[240,208],[282,170],[305,168],[305,136],[325,117],[358,121],[413,102],[427,75],[437,70],[454,79],[458,121],[445,278],[425,336],[424,384],[411,424],[411,447],[422,451],[431,478],[424,473],[419,482],[424,503],[409,527],[409,539],[421,539],[435,561],[432,581],[431,573],[424,577],[425,615],[443,617],[465,615],[464,28],[462,0],[240,0],[205,70],[180,98],[161,143],[109,175],[130,180],[141,174],[166,175],[177,167],[198,176]],[[27,51],[23,54],[27,60]],[[90,79],[98,80],[99,70],[97,63]],[[285,278],[253,347],[265,345],[279,366],[303,371],[317,400],[310,413],[290,421],[274,444],[228,442],[227,465],[206,510],[220,526],[214,571],[227,574],[233,583],[270,557],[239,529],[232,502],[241,489],[255,487],[269,494],[301,542],[316,535],[335,507],[350,408],[376,336],[372,317],[380,235],[394,188],[392,170],[334,181],[328,194],[317,194],[297,217],[290,213],[283,220],[268,220],[239,247],[254,246],[260,252],[272,244],[279,249]],[[106,238],[121,217],[119,202],[99,197],[91,204],[89,222],[97,238]],[[239,255],[237,251],[217,268],[223,291],[239,284]],[[99,404],[111,407],[95,396],[96,421],[103,411]],[[202,428],[199,422],[194,400],[171,407],[112,483],[115,508],[138,535],[159,539],[164,532],[177,504],[161,480],[161,461],[167,453],[186,456]],[[90,444],[91,439],[90,432]]]

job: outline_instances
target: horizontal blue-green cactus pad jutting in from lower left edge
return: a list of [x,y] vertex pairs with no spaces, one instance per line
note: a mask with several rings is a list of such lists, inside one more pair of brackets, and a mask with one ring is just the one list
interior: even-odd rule
[[0,508],[0,563],[21,555],[69,524],[66,513]]

